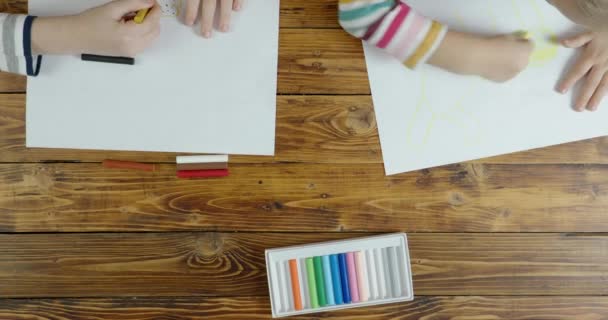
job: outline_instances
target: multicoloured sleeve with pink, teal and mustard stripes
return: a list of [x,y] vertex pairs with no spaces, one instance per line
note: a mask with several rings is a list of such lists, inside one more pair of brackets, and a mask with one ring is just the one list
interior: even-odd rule
[[447,33],[445,25],[399,0],[340,0],[339,19],[348,33],[412,69],[426,63]]

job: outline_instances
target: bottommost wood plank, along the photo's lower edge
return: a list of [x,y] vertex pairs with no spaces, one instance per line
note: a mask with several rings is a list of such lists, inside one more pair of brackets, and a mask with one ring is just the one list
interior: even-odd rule
[[[290,319],[597,320],[608,297],[419,297],[413,302]],[[271,319],[264,297],[0,300],[0,317],[37,320]]]

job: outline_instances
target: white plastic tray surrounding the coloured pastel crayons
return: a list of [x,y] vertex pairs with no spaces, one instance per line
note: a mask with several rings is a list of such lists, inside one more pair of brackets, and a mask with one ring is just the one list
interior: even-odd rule
[[[311,292],[308,288],[305,258],[348,252],[359,252],[366,257],[367,268],[362,269],[367,270],[367,276],[364,278],[368,281],[366,283],[368,283],[369,300],[314,308],[310,298]],[[295,306],[289,260],[295,260],[295,264],[297,264],[301,310],[296,310]],[[375,266],[374,268],[372,268],[372,263]],[[394,266],[394,269],[391,269],[393,268],[391,266]],[[272,316],[274,318],[414,299],[410,257],[405,233],[269,249],[266,250],[266,269]],[[384,276],[382,279],[380,279],[381,275]]]

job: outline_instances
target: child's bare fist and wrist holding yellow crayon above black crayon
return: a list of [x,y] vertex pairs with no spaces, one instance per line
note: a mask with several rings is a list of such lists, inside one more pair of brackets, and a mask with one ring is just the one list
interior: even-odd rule
[[[125,17],[152,8],[142,24]],[[133,57],[160,34],[155,0],[117,0],[75,16],[37,18],[32,47],[40,54],[101,54]]]

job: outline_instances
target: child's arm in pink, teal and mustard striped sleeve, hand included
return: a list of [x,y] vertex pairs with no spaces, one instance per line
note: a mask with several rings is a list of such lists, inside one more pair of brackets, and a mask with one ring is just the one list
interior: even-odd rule
[[448,31],[397,0],[340,0],[340,24],[409,68],[425,62],[450,72],[503,82],[529,61],[533,45],[507,35],[481,37]]

